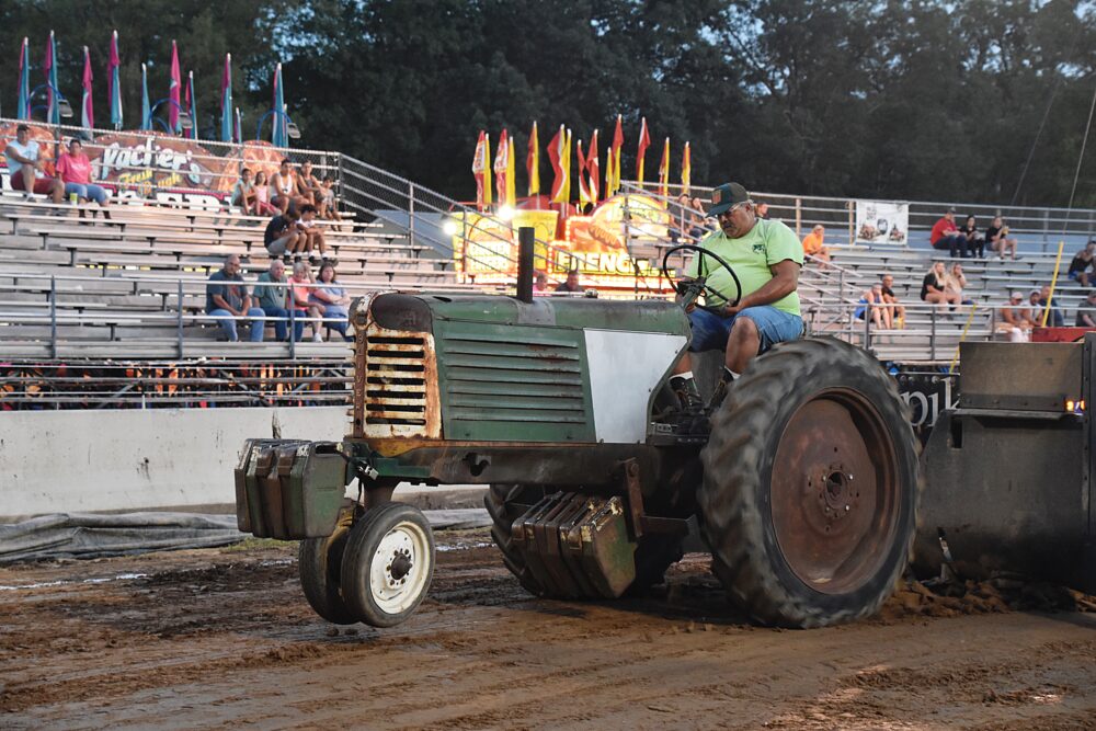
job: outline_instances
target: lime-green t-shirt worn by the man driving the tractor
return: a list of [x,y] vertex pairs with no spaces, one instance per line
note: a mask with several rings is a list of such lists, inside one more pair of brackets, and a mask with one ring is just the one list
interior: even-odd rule
[[[773,278],[773,272],[769,270],[772,265],[786,259],[800,266],[803,265],[803,247],[799,243],[799,237],[778,220],[758,218],[750,232],[739,239],[729,239],[722,231],[709,233],[700,242],[700,247],[711,251],[734,269],[742,283],[743,297],[761,289],[762,285]],[[695,254],[693,261],[685,267],[686,274],[697,276],[701,259],[704,259],[701,273],[708,275],[708,286],[728,297],[733,297],[734,279],[715,259]],[[708,305],[723,304],[724,300],[708,295]],[[785,295],[772,302],[772,306],[791,315],[801,315],[797,292]]]

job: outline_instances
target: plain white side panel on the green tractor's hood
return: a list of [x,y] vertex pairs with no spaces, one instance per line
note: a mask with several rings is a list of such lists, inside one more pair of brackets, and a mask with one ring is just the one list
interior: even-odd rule
[[685,347],[684,335],[584,330],[598,442],[647,439],[647,402]]

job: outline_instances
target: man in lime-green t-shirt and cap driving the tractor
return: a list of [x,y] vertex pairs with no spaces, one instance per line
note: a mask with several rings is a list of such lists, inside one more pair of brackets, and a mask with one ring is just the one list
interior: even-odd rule
[[[712,191],[708,215],[718,218],[720,230],[700,242],[678,292],[689,307],[689,351],[726,353],[722,376],[708,403],[711,411],[754,356],[803,334],[797,293],[803,248],[785,224],[760,218],[750,194],[738,183]],[[693,306],[688,299],[699,294],[705,295],[705,305]],[[699,429],[696,418],[703,419],[706,409],[688,353],[674,366],[670,386],[685,412],[683,427]]]

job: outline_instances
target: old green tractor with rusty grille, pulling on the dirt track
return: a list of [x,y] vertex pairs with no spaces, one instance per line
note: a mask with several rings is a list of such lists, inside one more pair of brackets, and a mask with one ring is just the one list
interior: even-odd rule
[[[757,621],[819,627],[879,608],[910,560],[918,449],[871,355],[830,338],[780,344],[697,436],[677,429],[667,380],[704,281],[676,304],[533,298],[530,269],[516,298],[357,300],[345,438],[248,442],[240,528],[301,540],[320,616],[392,626],[426,594],[433,537],[392,502],[401,482],[490,486],[494,541],[537,596],[641,592],[698,533]],[[713,385],[722,354],[710,356]]]

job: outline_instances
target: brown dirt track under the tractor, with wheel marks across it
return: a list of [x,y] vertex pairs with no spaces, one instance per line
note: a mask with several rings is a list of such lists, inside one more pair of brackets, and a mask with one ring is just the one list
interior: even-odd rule
[[384,631],[316,617],[289,546],[0,569],[0,728],[1096,729],[1094,615],[778,631],[706,557],[590,605],[530,598],[487,540],[439,534]]

